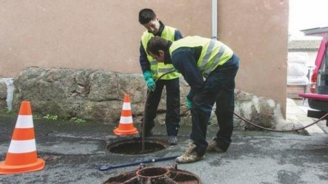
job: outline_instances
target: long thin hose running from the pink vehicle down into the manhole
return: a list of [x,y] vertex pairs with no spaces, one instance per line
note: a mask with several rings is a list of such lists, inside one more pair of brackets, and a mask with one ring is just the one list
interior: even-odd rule
[[[169,74],[169,73],[171,73],[171,72],[174,72],[174,71],[176,71],[176,70],[171,70],[171,71],[169,71],[169,72],[163,73],[162,75],[159,76],[159,78],[156,79],[156,81],[157,81],[158,79],[160,79],[162,76],[164,76],[164,75],[166,75],[166,74]],[[155,82],[156,82],[156,81],[155,81]],[[147,100],[148,100],[148,93],[147,93],[146,103],[147,103]],[[145,110],[146,110],[146,106],[145,106]],[[145,113],[145,111],[144,111],[144,113]],[[257,127],[257,128],[263,129],[263,130],[267,130],[267,131],[271,131],[271,132],[296,132],[296,131],[299,131],[299,130],[303,130],[303,129],[307,128],[307,127],[310,127],[310,126],[312,126],[312,125],[318,123],[319,121],[325,119],[326,117],[328,117],[328,113],[327,113],[327,114],[323,115],[320,119],[314,121],[313,123],[310,123],[309,125],[306,125],[306,126],[304,126],[304,127],[298,128],[298,129],[292,129],[292,130],[275,130],[275,129],[265,128],[265,127],[261,127],[261,126],[259,126],[259,125],[256,125],[256,124],[254,124],[254,123],[252,123],[252,122],[246,120],[245,118],[239,116],[239,115],[236,114],[235,112],[233,112],[233,113],[234,113],[235,116],[237,116],[238,118],[240,118],[240,119],[243,120],[244,122],[246,122],[246,123],[248,123],[248,124],[250,124],[250,125],[252,125],[252,126],[254,126],[254,127]],[[143,119],[144,119],[144,118],[143,118]],[[328,121],[328,120],[327,120],[327,121]],[[143,145],[142,145],[142,152],[143,152],[143,150],[144,150],[144,128],[143,128],[143,126],[144,126],[144,121],[142,121],[142,124],[143,124],[143,125],[142,125],[142,144],[143,144]]]

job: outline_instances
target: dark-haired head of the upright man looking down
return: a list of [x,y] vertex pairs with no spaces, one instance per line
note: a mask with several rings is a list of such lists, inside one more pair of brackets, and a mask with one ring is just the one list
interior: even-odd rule
[[157,34],[160,24],[154,11],[151,9],[142,9],[139,12],[139,23],[149,32]]

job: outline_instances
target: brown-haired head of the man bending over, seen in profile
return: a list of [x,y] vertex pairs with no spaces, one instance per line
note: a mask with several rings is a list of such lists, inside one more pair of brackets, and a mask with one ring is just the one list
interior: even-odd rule
[[164,62],[165,52],[168,48],[168,40],[161,37],[152,37],[147,43],[147,53],[157,62]]

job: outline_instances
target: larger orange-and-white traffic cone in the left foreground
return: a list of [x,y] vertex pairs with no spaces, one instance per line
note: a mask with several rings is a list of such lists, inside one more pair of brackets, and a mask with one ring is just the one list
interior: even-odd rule
[[41,170],[44,160],[37,158],[30,102],[22,102],[5,161],[0,162],[0,174]]

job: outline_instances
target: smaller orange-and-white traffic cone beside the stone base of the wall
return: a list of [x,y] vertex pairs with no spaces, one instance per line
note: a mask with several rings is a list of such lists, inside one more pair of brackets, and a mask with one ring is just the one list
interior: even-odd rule
[[114,129],[114,134],[132,135],[137,133],[138,130],[133,126],[130,96],[124,95],[124,103],[121,111],[120,124],[118,128]]

